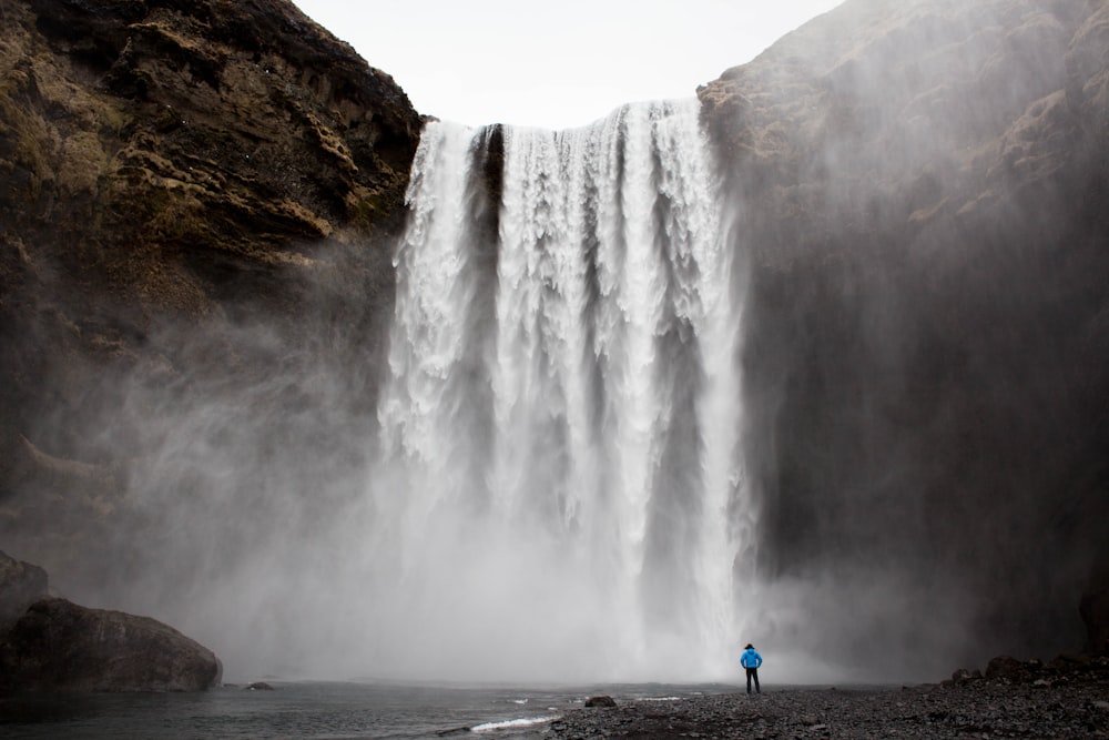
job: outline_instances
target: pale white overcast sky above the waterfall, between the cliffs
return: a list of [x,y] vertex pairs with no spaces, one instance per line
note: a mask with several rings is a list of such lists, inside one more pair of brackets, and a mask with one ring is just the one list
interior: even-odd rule
[[420,113],[564,129],[689,98],[842,0],[294,0]]

